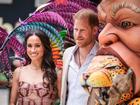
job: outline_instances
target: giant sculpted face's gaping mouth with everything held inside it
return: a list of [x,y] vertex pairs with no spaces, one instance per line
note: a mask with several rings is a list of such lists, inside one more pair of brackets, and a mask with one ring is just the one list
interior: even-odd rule
[[[89,73],[89,71],[92,72]],[[99,102],[106,103],[104,105],[111,102],[122,103],[132,97],[130,92],[132,72],[128,71],[128,66],[117,52],[110,47],[102,47],[92,59],[87,69],[89,75],[87,75],[87,78],[82,79],[81,85],[92,97],[95,96]],[[129,83],[128,87],[123,85],[126,82]],[[114,94],[116,97],[114,97]],[[124,96],[127,94],[130,97],[125,98]],[[95,97],[90,98],[95,100]]]

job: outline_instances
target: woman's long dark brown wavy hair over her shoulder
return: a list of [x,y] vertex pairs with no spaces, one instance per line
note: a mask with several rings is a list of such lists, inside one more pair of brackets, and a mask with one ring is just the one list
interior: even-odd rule
[[[54,64],[53,57],[52,57],[52,49],[51,49],[51,43],[50,43],[49,37],[46,35],[45,32],[41,30],[29,30],[26,32],[25,35],[26,35],[25,41],[24,41],[25,48],[27,46],[27,40],[30,36],[36,35],[41,40],[41,43],[43,44],[45,48],[43,61],[41,65],[41,69],[45,71],[43,75],[43,81],[44,79],[47,79],[53,86],[55,86],[55,83],[57,80],[57,74],[55,71],[56,66]],[[27,53],[26,53],[26,60],[28,61],[28,64],[31,63],[31,59],[29,58]]]

